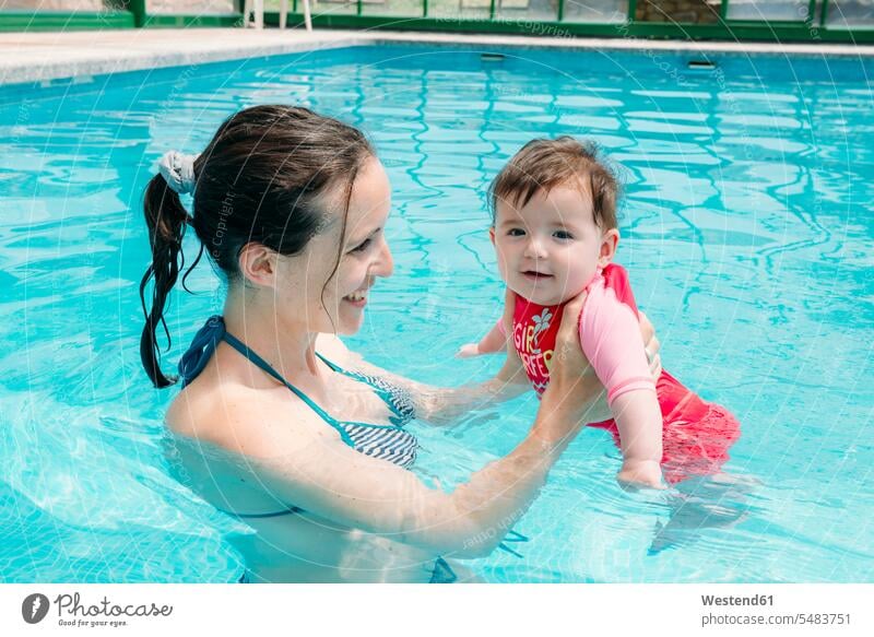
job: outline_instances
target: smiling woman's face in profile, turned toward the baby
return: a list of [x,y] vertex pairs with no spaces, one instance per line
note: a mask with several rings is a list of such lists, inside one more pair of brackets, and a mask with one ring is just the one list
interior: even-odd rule
[[[391,189],[379,160],[368,158],[358,170],[345,233],[344,205],[344,187],[328,193],[328,226],[312,237],[300,255],[280,259],[277,281],[288,282],[275,287],[282,296],[277,299],[281,311],[292,320],[306,321],[308,332],[357,332],[370,287],[377,276],[390,276],[394,267],[383,232],[391,209]],[[340,263],[332,274],[338,251]]]

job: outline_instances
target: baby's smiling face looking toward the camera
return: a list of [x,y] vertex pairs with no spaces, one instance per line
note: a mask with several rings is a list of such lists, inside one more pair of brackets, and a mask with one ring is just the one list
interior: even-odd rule
[[613,258],[616,228],[594,223],[591,197],[572,186],[534,194],[522,208],[498,202],[492,240],[510,290],[539,305],[558,305],[580,292]]

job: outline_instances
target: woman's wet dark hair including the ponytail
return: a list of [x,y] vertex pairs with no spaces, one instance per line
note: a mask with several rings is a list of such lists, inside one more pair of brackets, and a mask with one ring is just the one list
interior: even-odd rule
[[[169,349],[164,308],[185,268],[182,237],[187,226],[194,228],[201,246],[182,276],[182,286],[204,248],[233,283],[240,278],[238,259],[247,244],[260,244],[284,256],[300,252],[327,221],[319,198],[338,187],[345,193],[341,232],[345,237],[352,186],[373,155],[369,142],[354,127],[308,108],[263,105],[225,120],[194,161],[193,214],[188,214],[179,194],[161,174],[152,178],[143,205],[152,263],[140,283],[145,315],[140,357],[155,387],[176,382],[161,370],[157,327],[163,326]],[[334,271],[340,257],[338,253]],[[154,285],[147,310],[150,279]]]

